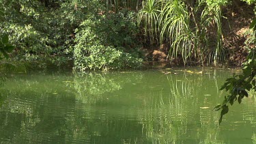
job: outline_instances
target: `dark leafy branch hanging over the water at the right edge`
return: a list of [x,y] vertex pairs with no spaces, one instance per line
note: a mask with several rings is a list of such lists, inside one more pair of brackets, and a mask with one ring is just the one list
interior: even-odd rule
[[[255,20],[253,20],[253,23],[251,23],[250,25],[251,29],[254,29],[256,25],[254,21]],[[248,56],[246,57],[246,61],[243,63],[242,74],[233,74],[233,77],[227,78],[226,83],[224,83],[224,85],[220,89],[225,89],[225,91],[229,91],[229,95],[225,96],[222,104],[218,104],[218,106],[214,108],[216,111],[222,109],[221,117],[218,120],[219,124],[221,124],[223,115],[225,115],[229,111],[228,104],[233,105],[233,102],[235,102],[236,100],[238,100],[238,103],[241,103],[244,97],[248,98],[248,91],[256,91],[255,75],[256,48],[254,47],[249,51]]]

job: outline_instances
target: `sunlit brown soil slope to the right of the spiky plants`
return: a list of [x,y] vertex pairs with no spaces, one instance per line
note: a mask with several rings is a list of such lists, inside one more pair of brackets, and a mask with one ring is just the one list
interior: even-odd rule
[[244,43],[248,37],[249,25],[255,16],[253,6],[244,5],[229,8],[223,14],[224,46],[229,50],[229,65],[241,66],[248,50]]

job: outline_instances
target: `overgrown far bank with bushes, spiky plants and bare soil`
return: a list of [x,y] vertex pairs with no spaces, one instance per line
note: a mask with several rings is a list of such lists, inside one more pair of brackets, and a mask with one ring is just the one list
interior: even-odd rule
[[15,46],[10,57],[16,61],[50,61],[57,67],[72,61],[80,71],[137,69],[158,62],[242,65],[256,43],[255,33],[248,29],[254,5],[176,2],[138,0],[134,7],[102,1],[33,1],[38,8],[31,8],[28,1],[12,1],[0,5],[5,22],[0,35],[8,35]]

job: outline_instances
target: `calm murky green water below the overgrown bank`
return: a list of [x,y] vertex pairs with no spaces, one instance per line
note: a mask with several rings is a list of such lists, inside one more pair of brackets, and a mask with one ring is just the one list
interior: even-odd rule
[[[235,70],[10,74],[1,87],[1,143],[256,143],[256,99],[218,126]],[[5,97],[6,96],[6,97]]]

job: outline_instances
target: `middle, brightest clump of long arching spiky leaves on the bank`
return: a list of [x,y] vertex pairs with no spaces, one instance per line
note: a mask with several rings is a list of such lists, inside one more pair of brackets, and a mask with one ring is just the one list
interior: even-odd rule
[[163,23],[161,31],[161,42],[165,38],[171,43],[169,57],[177,58],[182,55],[184,63],[187,62],[193,51],[193,34],[190,31],[188,7],[184,1],[167,1],[160,14],[160,22]]

